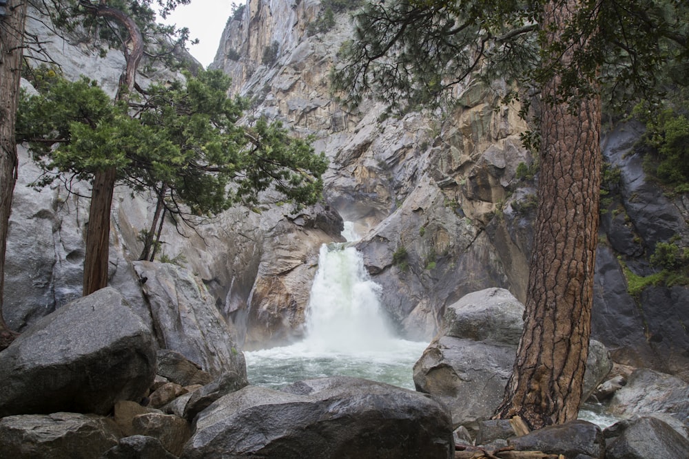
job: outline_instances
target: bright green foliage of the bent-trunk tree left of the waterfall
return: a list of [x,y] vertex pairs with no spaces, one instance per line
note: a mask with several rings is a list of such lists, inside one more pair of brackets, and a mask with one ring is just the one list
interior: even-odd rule
[[238,125],[247,101],[227,97],[222,72],[186,76],[152,85],[135,112],[88,78],[55,78],[39,96],[24,95],[17,141],[28,142],[43,167],[40,184],[90,180],[114,167],[134,191],[165,191],[167,211],[178,215],[256,203],[271,187],[298,205],[320,198],[327,161],[308,140],[263,118]]

